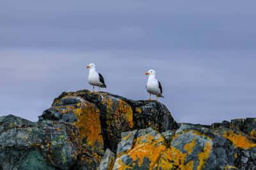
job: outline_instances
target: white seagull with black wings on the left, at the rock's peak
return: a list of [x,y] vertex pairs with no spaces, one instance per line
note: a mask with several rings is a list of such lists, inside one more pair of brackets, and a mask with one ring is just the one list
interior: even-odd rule
[[100,88],[107,88],[103,76],[100,73],[96,72],[96,65],[91,63],[87,66],[87,68],[89,69],[88,82],[93,86],[93,92],[94,86],[98,86],[99,91]]

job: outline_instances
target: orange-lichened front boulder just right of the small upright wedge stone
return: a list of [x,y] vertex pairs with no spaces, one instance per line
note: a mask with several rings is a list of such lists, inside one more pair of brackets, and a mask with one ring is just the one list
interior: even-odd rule
[[[125,143],[126,138],[122,141]],[[152,169],[166,150],[164,137],[153,128],[139,130],[131,150],[117,155],[113,169]]]

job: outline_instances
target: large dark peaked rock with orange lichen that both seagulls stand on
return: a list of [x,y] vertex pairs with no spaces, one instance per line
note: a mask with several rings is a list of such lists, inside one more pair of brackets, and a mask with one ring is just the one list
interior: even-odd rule
[[[56,116],[59,112],[61,116]],[[44,119],[65,121],[79,128],[83,146],[79,168],[86,164],[92,169],[99,166],[106,148],[116,152],[122,132],[147,127],[164,132],[177,127],[168,109],[159,102],[86,90],[62,93],[44,111],[40,120]]]

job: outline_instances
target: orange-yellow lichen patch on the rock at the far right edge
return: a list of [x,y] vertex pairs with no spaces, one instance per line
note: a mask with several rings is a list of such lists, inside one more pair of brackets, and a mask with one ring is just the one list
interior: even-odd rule
[[223,137],[230,140],[238,148],[249,149],[256,147],[256,143],[252,143],[246,136],[243,136],[241,133],[234,133],[232,131],[224,131]]

